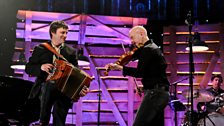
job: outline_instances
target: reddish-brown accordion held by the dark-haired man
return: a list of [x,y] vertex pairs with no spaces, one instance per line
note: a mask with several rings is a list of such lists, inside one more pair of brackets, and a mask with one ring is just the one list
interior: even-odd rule
[[54,62],[52,73],[47,77],[47,82],[55,83],[58,90],[72,101],[79,99],[80,91],[83,87],[89,87],[91,80],[85,71],[58,59]]

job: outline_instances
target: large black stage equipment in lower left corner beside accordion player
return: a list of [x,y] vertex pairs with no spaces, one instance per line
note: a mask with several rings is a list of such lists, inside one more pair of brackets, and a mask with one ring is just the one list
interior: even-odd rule
[[0,125],[28,126],[39,119],[39,99],[28,99],[33,82],[0,76]]

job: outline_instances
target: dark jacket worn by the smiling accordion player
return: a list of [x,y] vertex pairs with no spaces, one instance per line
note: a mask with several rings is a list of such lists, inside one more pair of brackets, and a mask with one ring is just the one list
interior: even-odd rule
[[[51,45],[51,43],[49,42]],[[71,64],[78,66],[77,51],[64,44],[60,54],[65,57]],[[26,64],[26,73],[31,76],[36,76],[35,84],[33,85],[29,98],[35,98],[39,96],[41,90],[41,83],[45,82],[48,74],[41,70],[41,65],[45,63],[53,64],[53,53],[46,49],[43,45],[38,45],[34,48],[32,56],[29,58],[29,62]]]

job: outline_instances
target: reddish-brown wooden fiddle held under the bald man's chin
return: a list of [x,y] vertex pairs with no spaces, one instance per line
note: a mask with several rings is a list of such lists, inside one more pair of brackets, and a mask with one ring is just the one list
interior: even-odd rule
[[[128,51],[127,53],[121,55],[119,57],[119,59],[114,64],[121,65],[121,66],[127,64],[128,62],[130,62],[132,60],[132,56],[137,50],[138,50],[138,48],[135,47],[131,51]],[[111,70],[110,67],[108,69],[106,69],[106,71],[104,72],[104,75],[107,76],[110,70]]]

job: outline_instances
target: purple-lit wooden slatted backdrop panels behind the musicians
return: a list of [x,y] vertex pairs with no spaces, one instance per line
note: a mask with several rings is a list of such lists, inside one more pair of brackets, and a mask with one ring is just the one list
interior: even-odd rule
[[[50,39],[48,29],[51,21],[64,20],[69,24],[67,43],[84,48],[84,55],[90,59],[90,66],[84,66],[94,80],[91,92],[80,99],[70,109],[67,124],[96,125],[98,117],[98,93],[102,93],[100,108],[101,125],[131,126],[141,97],[135,94],[134,80],[123,77],[120,71],[111,71],[105,76],[105,64],[115,62],[124,53],[121,44],[129,49],[128,31],[135,25],[146,25],[145,18],[99,16],[71,13],[50,13],[20,10],[17,14],[17,42],[13,61],[24,52],[26,59],[31,56],[35,45]],[[208,51],[194,52],[194,88],[205,88],[212,74],[222,74],[224,68],[224,24],[198,25],[201,40]],[[195,31],[195,26],[192,31]],[[164,27],[163,49],[168,62],[167,75],[171,83],[189,76],[189,53],[187,26]],[[136,62],[130,63],[135,66]],[[15,76],[34,81],[23,70],[15,70]],[[141,86],[140,80],[137,80]],[[100,85],[100,88],[99,88]],[[209,83],[210,86],[210,83]],[[188,89],[189,80],[177,84],[177,97],[187,106],[182,91]],[[171,87],[171,91],[173,87]],[[184,111],[178,112],[178,123],[184,118]],[[166,126],[174,125],[174,112],[169,106],[165,109]]]

